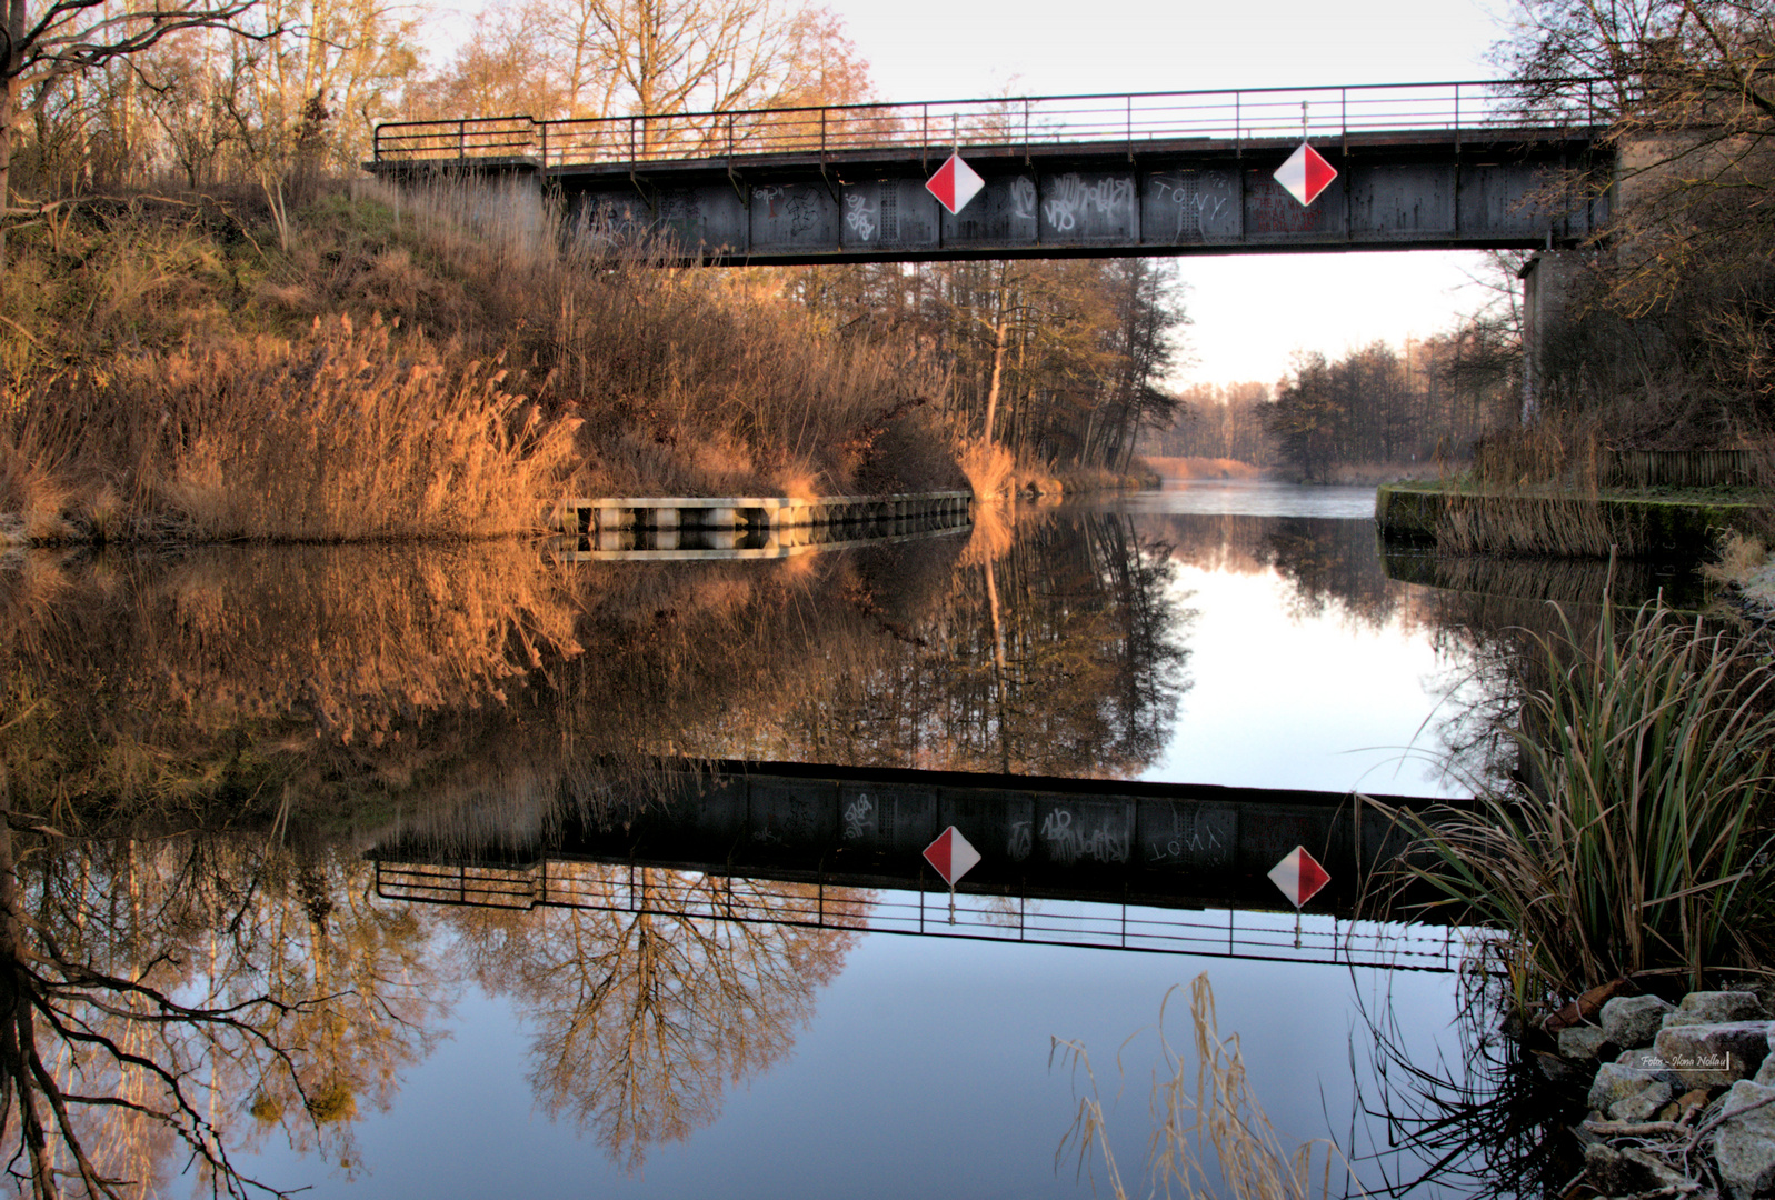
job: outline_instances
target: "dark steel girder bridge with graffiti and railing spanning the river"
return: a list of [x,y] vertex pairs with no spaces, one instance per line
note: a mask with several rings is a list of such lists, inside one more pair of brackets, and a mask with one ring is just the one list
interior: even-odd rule
[[[1608,217],[1592,82],[1042,96],[573,121],[382,124],[394,181],[532,181],[595,236],[683,263],[872,263],[1383,249],[1564,249]],[[1338,176],[1299,204],[1303,140]],[[985,188],[925,179],[960,151]],[[1574,174],[1590,186],[1573,186]]]

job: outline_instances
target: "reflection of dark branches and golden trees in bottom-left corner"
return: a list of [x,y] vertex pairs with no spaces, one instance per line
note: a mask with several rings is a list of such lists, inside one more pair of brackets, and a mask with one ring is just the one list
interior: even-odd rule
[[[353,879],[355,875],[355,879]],[[366,864],[238,841],[76,841],[0,825],[0,1136],[36,1196],[138,1196],[195,1163],[215,1191],[282,1125],[355,1170],[447,1005],[426,920],[369,904]]]

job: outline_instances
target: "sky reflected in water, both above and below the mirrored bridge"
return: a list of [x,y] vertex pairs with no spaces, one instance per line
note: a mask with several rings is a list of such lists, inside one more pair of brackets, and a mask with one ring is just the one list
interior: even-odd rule
[[[1175,533],[1166,518],[1193,517],[1349,520],[1360,534],[1372,492],[1205,483],[1129,497],[1125,511],[1159,538]],[[1170,588],[1195,614],[1189,687],[1147,778],[1438,792],[1432,772],[1399,763],[1413,742],[1432,747],[1420,730],[1457,664],[1404,616],[1358,620],[1337,598],[1303,605],[1287,570],[1214,552],[1180,554]],[[520,1014],[467,985],[449,1038],[406,1076],[392,1111],[364,1120],[355,1184],[339,1170],[314,1179],[312,1161],[275,1149],[252,1172],[312,1182],[316,1196],[1092,1195],[1090,1177],[1054,1161],[1076,1109],[1072,1079],[1049,1063],[1060,1037],[1090,1049],[1124,1180],[1145,1195],[1154,1022],[1166,991],[1200,971],[1290,1141],[1351,1129],[1358,1079],[1372,1083],[1363,1007],[1390,992],[1425,1058],[1456,1012],[1448,975],[863,936],[790,1053],[627,1175],[595,1138],[538,1109]],[[1173,1046],[1187,1046],[1187,994],[1170,1021]],[[1108,1195],[1102,1179],[1097,1191]]]

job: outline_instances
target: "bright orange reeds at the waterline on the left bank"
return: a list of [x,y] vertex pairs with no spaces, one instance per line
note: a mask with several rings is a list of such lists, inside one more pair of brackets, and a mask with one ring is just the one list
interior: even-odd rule
[[497,362],[396,343],[380,320],[316,318],[291,341],[51,376],[0,422],[0,447],[106,479],[135,513],[206,540],[506,534],[534,529],[573,472],[579,421],[543,419],[504,382]]

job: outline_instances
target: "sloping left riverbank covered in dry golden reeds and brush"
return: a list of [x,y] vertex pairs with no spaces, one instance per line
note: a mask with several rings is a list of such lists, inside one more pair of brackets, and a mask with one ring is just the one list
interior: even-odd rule
[[531,533],[559,495],[966,486],[944,376],[518,193],[92,201],[0,280],[0,538]]

